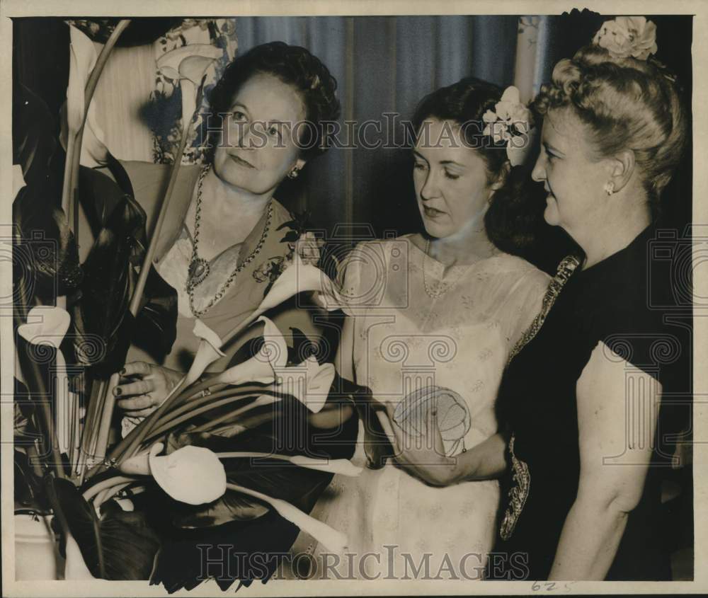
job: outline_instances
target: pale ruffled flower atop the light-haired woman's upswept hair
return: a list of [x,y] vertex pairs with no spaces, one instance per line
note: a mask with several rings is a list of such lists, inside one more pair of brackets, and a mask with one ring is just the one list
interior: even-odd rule
[[643,16],[618,16],[603,23],[593,43],[615,58],[632,56],[646,60],[650,54],[656,54],[656,25]]

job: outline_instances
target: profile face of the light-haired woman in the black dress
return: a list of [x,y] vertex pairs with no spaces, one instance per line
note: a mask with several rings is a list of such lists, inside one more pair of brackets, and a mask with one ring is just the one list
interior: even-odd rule
[[603,226],[610,180],[608,161],[593,156],[585,125],[570,110],[549,110],[543,122],[541,153],[532,178],[548,192],[544,219],[573,238]]

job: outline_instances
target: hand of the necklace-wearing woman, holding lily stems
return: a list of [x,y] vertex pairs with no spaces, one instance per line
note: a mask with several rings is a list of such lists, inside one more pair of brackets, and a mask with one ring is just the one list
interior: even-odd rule
[[130,362],[120,372],[120,384],[113,389],[116,404],[125,415],[144,418],[150,415],[177,386],[184,374],[146,362]]

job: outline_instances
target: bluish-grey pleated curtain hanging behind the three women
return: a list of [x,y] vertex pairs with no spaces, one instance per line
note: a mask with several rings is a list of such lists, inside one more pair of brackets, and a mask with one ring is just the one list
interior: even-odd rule
[[[393,114],[407,120],[423,96],[464,76],[518,86],[529,100],[550,75],[548,16],[239,17],[239,52],[273,40],[307,47],[338,81],[342,120],[365,142],[400,135]],[[386,116],[388,115],[388,116]],[[389,125],[387,127],[387,125]],[[349,131],[350,129],[346,129]],[[389,139],[392,135],[389,134]],[[345,131],[342,142],[349,141]],[[304,169],[285,201],[307,209],[328,234],[382,236],[419,225],[405,147],[335,148]]]

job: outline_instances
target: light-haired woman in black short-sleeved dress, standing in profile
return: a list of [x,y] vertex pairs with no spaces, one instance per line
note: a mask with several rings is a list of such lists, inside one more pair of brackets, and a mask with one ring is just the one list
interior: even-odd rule
[[564,260],[567,282],[503,376],[505,435],[438,467],[444,483],[504,476],[495,579],[671,577],[661,473],[685,351],[651,306],[673,301],[656,294],[649,256],[686,117],[675,77],[651,57],[655,35],[643,17],[607,21],[535,100],[544,218],[582,255]]

